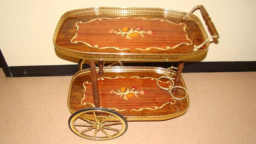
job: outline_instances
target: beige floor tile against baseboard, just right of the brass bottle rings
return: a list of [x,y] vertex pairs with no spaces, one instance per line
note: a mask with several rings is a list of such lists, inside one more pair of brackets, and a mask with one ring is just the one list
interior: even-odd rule
[[183,73],[188,91],[221,90],[216,73]]

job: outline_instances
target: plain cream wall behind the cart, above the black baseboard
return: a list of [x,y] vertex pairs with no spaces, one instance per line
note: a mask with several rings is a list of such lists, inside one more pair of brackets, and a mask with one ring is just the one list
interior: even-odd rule
[[[206,57],[192,61],[256,61],[255,0],[1,0],[0,48],[9,66],[74,64],[74,59],[60,58],[52,42],[57,22],[66,11],[126,6],[189,12],[201,4],[212,18],[220,39],[218,44],[210,44]],[[200,12],[194,14],[199,16]]]

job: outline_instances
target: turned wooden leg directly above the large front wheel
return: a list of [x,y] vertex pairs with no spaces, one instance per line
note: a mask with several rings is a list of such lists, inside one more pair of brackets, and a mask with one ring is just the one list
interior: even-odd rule
[[95,107],[100,107],[100,97],[99,97],[99,88],[97,82],[97,73],[96,73],[96,61],[89,61],[91,67],[91,81],[92,81],[92,92],[93,92],[93,101]]

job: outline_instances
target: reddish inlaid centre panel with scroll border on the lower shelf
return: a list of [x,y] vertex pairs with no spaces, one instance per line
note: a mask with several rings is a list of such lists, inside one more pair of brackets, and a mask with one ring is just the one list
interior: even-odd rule
[[[137,85],[132,85],[128,81],[133,81]],[[99,95],[101,95],[101,107],[107,107],[108,109],[113,109],[116,111],[142,111],[147,110],[157,110],[161,109],[166,105],[173,105],[176,101],[170,97],[169,93],[161,90],[155,83],[157,79],[152,77],[123,77],[118,76],[114,78],[103,77],[98,79],[98,86],[102,89],[99,90]],[[147,84],[146,84],[146,83]],[[113,84],[112,88],[104,88],[104,85]],[[162,82],[163,85],[170,85],[170,83]],[[90,82],[86,81],[83,83],[84,96],[81,99],[82,105],[90,105],[95,107],[92,97],[92,85]],[[154,89],[159,89],[156,92]],[[106,102],[105,98],[110,102]],[[149,101],[154,99],[154,102],[148,103],[147,107],[142,107],[139,103],[143,101]],[[164,99],[164,101],[163,101]],[[120,103],[120,100],[124,104]],[[115,106],[115,107],[113,107]],[[130,108],[129,108],[130,107]]]

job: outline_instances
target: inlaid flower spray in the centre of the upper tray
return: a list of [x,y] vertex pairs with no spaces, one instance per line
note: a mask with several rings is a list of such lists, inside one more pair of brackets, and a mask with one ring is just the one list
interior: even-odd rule
[[126,35],[127,39],[132,39],[135,37],[139,37],[142,36],[144,37],[144,34],[150,34],[150,35],[155,35],[156,32],[155,31],[151,31],[151,30],[142,30],[143,27],[138,26],[135,30],[133,30],[133,28],[129,29],[128,27],[124,27],[121,29],[118,29],[119,31],[116,31],[115,29],[111,29],[108,32],[109,33],[116,33],[116,34],[121,34],[122,36]]

